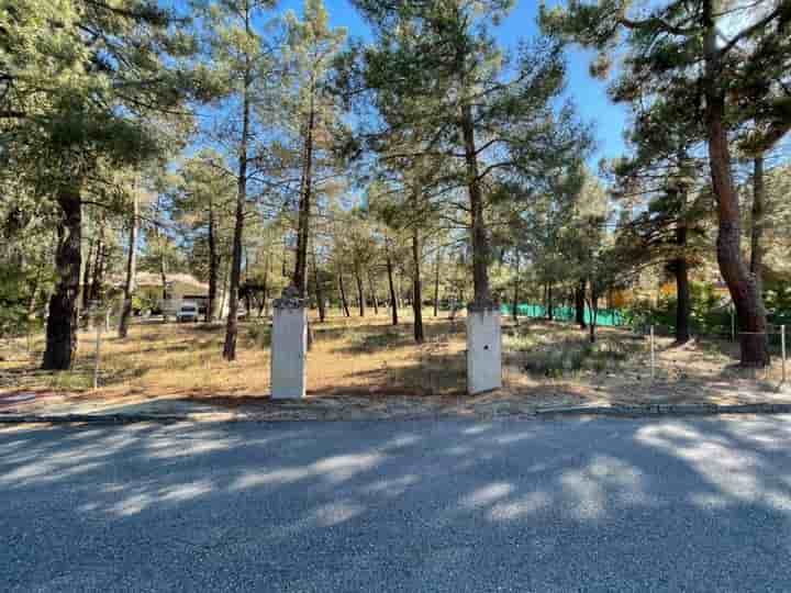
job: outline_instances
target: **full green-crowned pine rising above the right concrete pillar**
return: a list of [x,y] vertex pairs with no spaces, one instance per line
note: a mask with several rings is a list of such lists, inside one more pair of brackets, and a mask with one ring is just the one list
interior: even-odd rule
[[355,4],[376,43],[347,57],[344,82],[367,100],[361,109],[376,110],[361,135],[385,193],[400,195],[400,217],[412,226],[441,217],[472,227],[474,289],[488,298],[490,244],[513,246],[508,233],[492,237],[490,230],[514,223],[509,231],[519,232],[516,223],[571,177],[590,147],[571,105],[557,109],[562,47],[538,38],[508,55],[490,23],[512,2]]

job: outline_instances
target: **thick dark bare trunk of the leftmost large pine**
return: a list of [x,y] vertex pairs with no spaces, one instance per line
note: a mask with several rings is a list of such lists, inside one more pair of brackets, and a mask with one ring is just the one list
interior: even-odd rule
[[76,189],[62,189],[57,197],[63,213],[55,254],[57,282],[49,299],[46,348],[42,368],[68,370],[77,351],[77,299],[80,282],[82,204]]

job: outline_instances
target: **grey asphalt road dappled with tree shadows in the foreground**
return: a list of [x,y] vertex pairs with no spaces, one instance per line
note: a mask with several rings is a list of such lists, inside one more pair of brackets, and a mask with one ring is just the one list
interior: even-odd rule
[[0,591],[791,591],[791,417],[0,430]]

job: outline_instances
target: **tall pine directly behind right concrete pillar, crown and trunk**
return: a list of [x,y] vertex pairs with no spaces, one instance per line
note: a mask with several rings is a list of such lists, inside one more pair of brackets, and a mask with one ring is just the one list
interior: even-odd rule
[[487,26],[508,13],[505,0],[355,4],[376,37],[358,68],[347,68],[352,88],[359,74],[374,91],[380,126],[370,146],[381,161],[430,157],[443,195],[466,192],[474,300],[490,306],[487,188],[503,176],[530,183],[588,143],[570,108],[553,109],[565,76],[560,47],[524,44],[510,63]]

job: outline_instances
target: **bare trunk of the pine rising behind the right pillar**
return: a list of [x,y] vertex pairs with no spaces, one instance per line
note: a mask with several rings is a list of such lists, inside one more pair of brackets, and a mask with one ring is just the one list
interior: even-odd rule
[[465,103],[461,108],[459,125],[465,144],[467,188],[470,201],[474,301],[477,304],[489,305],[491,302],[491,293],[489,290],[489,238],[483,220],[483,193],[481,192],[480,178],[478,176],[475,121],[472,119],[472,108],[469,103]]

